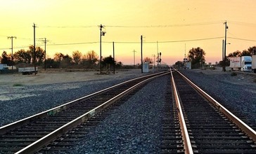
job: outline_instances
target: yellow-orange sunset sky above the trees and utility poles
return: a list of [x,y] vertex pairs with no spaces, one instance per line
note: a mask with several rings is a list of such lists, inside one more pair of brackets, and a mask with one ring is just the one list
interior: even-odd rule
[[[72,55],[79,50],[99,53],[100,30],[102,55],[113,54],[123,64],[141,60],[140,37],[143,35],[143,58],[162,52],[162,61],[174,64],[183,60],[191,48],[203,48],[206,62],[222,60],[224,22],[227,31],[226,52],[247,50],[256,45],[256,1],[254,0],[2,0],[0,5],[0,54],[28,49],[47,38],[47,57],[56,52]],[[158,41],[158,50],[157,42]],[[186,44],[186,45],[185,45]]]

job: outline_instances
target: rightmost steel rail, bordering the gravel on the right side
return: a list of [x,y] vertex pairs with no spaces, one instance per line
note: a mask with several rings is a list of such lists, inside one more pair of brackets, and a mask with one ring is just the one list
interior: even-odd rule
[[[179,71],[177,71],[178,73],[180,73]],[[253,130],[250,126],[248,126],[247,124],[245,124],[243,122],[243,120],[239,119],[238,117],[236,117],[235,115],[233,115],[233,113],[231,113],[228,109],[226,109],[224,106],[222,106],[222,104],[219,104],[219,102],[217,102],[214,98],[212,98],[209,94],[207,94],[206,92],[204,92],[202,89],[200,89],[200,87],[198,87],[197,85],[195,85],[194,83],[192,83],[191,80],[189,80],[188,78],[186,78],[186,76],[184,76],[182,73],[180,73],[181,76],[183,78],[186,79],[186,81],[192,86],[194,87],[200,94],[203,95],[203,97],[205,97],[205,99],[207,99],[209,102],[211,102],[212,104],[214,104],[217,109],[219,109],[220,112],[222,112],[227,118],[229,118],[231,121],[233,121],[236,125],[238,125],[238,127],[241,128],[241,130],[243,130],[243,132],[245,132],[245,134],[248,134],[248,136],[256,142],[256,132],[255,130]]]

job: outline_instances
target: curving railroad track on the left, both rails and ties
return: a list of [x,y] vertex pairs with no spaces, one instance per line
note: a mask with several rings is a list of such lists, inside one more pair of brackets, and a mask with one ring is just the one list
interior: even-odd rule
[[[113,106],[114,102],[120,101],[144,83],[167,73],[169,71],[132,79],[0,127],[0,153],[35,153],[41,148],[45,149],[47,145],[54,144],[56,139],[60,141],[65,138],[77,125],[82,127],[82,123],[87,120],[97,119],[98,113]],[[76,134],[76,138],[79,135]]]

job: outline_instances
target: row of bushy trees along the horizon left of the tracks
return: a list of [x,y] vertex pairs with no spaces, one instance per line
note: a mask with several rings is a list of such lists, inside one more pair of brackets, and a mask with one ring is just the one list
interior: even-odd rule
[[[85,55],[82,52],[75,50],[72,55],[64,55],[61,52],[57,52],[53,58],[47,58],[45,62],[45,51],[39,46],[35,50],[35,61],[37,66],[46,67],[46,69],[65,69],[65,68],[84,68],[84,69],[95,69],[98,67],[99,56],[94,50],[88,51]],[[13,60],[12,60],[13,59]],[[8,66],[33,66],[34,64],[34,46],[30,45],[27,50],[20,49],[11,54],[7,54],[6,51],[0,56],[1,64],[7,64]],[[45,63],[44,63],[45,62]],[[45,65],[46,64],[46,65]],[[120,67],[122,62],[116,62],[113,57],[103,57],[101,62],[104,67]]]

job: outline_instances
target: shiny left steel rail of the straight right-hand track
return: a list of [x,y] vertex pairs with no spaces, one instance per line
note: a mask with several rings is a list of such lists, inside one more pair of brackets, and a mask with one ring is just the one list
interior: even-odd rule
[[[172,75],[172,71],[171,71],[171,75]],[[192,145],[191,145],[191,141],[189,139],[188,129],[186,127],[183,111],[181,109],[181,103],[179,101],[179,94],[177,92],[177,87],[176,87],[176,84],[174,82],[174,77],[173,76],[172,76],[172,88],[173,88],[173,91],[174,91],[175,103],[176,103],[177,109],[179,110],[178,111],[179,123],[181,125],[182,139],[184,140],[184,153],[192,154],[193,153],[193,148],[192,148]]]

